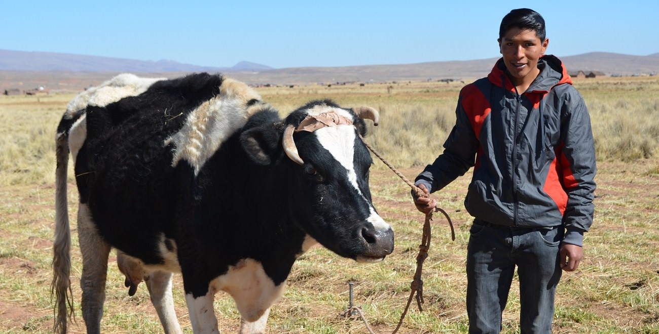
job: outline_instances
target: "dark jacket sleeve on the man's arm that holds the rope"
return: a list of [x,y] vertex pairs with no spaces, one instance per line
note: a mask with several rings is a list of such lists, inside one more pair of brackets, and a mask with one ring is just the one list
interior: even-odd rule
[[444,188],[474,166],[478,139],[463,108],[462,99],[461,93],[455,110],[455,126],[444,143],[444,152],[415,179],[415,185],[423,183],[430,193]]

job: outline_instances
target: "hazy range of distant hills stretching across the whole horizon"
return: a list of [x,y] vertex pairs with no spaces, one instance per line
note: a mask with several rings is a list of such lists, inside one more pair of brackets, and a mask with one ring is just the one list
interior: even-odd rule
[[[618,53],[585,53],[558,57],[569,72],[603,72],[608,76],[659,74],[659,53],[648,56]],[[229,68],[181,64],[171,60],[143,61],[0,50],[0,91],[33,89],[78,91],[98,85],[121,72],[142,76],[173,78],[190,72],[223,73],[250,84],[306,85],[310,83],[402,82],[421,80],[461,80],[468,82],[486,76],[496,58],[422,62],[418,64],[363,65],[341,67],[277,68],[252,62],[239,62]]]

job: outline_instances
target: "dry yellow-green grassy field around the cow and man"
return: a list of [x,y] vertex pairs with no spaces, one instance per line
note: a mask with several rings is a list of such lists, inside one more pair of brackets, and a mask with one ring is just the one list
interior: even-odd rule
[[[264,100],[283,114],[310,99],[329,97],[346,107],[370,105],[381,125],[366,140],[408,178],[434,160],[455,119],[461,83],[405,82],[365,85],[264,87]],[[659,78],[578,80],[592,118],[598,155],[596,216],[585,237],[585,258],[577,272],[563,274],[554,318],[555,333],[659,333]],[[0,332],[49,332],[49,294],[54,229],[55,128],[72,95],[0,96]],[[77,192],[70,176],[70,216]],[[399,333],[460,333],[464,309],[465,252],[471,218],[463,207],[469,175],[433,195],[451,216],[451,241],[444,218],[436,216],[430,254],[424,264],[424,312],[411,310]],[[380,214],[395,231],[395,251],[379,264],[356,264],[322,247],[293,267],[285,295],[273,306],[271,333],[367,333],[360,320],[342,318],[348,283],[355,304],[376,333],[390,333],[399,320],[415,271],[423,216],[409,188],[376,161],[371,191]],[[74,219],[72,220],[74,224]],[[81,259],[72,226],[72,285],[76,320],[84,332],[78,286]],[[114,262],[114,255],[111,254]],[[140,285],[129,297],[123,275],[109,266],[103,331],[158,333],[161,327],[148,292]],[[177,316],[191,333],[178,275]],[[220,329],[235,332],[239,314],[218,293]],[[519,332],[519,298],[513,283],[503,316],[504,333]]]

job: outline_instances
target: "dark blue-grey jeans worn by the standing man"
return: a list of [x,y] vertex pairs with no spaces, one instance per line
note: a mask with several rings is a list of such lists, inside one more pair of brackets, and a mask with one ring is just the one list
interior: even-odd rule
[[469,333],[500,333],[515,266],[521,333],[551,333],[554,295],[561,278],[562,226],[510,227],[474,220],[467,247]]

